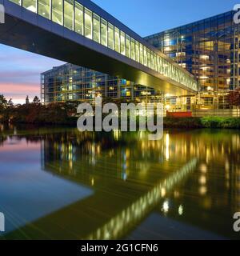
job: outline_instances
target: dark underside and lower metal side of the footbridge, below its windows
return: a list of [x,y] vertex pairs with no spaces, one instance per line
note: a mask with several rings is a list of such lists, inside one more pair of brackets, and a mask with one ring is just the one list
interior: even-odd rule
[[196,93],[178,82],[162,77],[155,71],[151,71],[155,72],[154,75],[149,74],[148,68],[146,72],[141,70],[142,66],[139,70],[138,65],[132,60],[129,59],[129,63],[126,63],[125,56],[54,22],[46,21],[41,17],[35,20],[34,16],[30,18],[32,22],[26,22],[22,18],[6,14],[5,24],[0,25],[0,43],[125,78],[143,86],[153,87],[162,93],[174,95]]

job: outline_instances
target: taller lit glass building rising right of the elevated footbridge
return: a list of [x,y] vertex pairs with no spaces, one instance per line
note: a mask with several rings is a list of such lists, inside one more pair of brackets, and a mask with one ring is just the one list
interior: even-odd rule
[[234,11],[145,38],[199,79],[200,106],[227,107],[228,90],[238,88],[239,27]]

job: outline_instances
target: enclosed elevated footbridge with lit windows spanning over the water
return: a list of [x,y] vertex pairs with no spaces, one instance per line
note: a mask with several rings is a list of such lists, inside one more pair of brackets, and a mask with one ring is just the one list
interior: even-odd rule
[[93,2],[4,0],[4,5],[6,22],[0,26],[1,43],[162,92],[186,94],[198,90],[190,73]]

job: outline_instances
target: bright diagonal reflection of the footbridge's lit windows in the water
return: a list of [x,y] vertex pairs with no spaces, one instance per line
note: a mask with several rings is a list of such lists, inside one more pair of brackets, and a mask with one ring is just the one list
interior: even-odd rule
[[190,171],[194,170],[196,164],[197,159],[194,158],[188,162],[186,166],[183,166],[180,170],[171,174],[169,178],[160,182],[158,186],[154,186],[152,190],[139,198],[138,201],[128,206],[125,210],[122,210],[122,212],[114,218],[111,218],[110,222],[107,222],[93,234],[90,234],[86,239],[102,240],[121,237],[126,228],[134,226],[135,223],[146,217],[146,214],[157,205],[162,198],[162,191],[164,191],[165,194],[167,191],[171,190],[178,182],[186,178]]

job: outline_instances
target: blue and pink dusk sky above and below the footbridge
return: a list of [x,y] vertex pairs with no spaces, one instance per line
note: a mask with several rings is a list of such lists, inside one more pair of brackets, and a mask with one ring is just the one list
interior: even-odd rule
[[[232,10],[232,0],[94,0],[142,37]],[[1,26],[1,24],[0,24]],[[40,73],[63,62],[0,44],[0,94],[14,103],[40,97]]]

